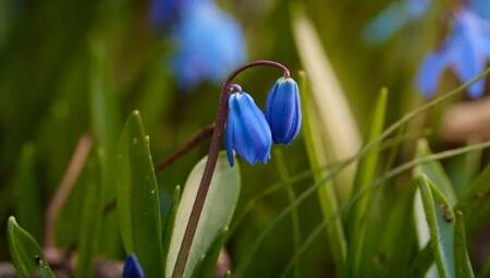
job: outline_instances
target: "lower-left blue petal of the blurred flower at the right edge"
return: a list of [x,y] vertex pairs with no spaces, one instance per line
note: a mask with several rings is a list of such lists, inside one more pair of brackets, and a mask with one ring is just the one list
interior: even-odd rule
[[426,57],[417,76],[417,86],[426,98],[436,93],[439,78],[446,65],[448,61],[443,50]]

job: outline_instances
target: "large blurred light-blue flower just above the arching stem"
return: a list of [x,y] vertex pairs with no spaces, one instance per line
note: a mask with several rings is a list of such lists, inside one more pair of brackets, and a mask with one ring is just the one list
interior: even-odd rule
[[242,31],[211,1],[188,5],[175,27],[177,51],[172,64],[184,89],[204,80],[221,82],[245,61]]

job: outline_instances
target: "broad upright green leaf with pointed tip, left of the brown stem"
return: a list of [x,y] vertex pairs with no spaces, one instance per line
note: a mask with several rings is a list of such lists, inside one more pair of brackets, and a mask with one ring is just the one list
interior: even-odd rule
[[148,277],[163,277],[160,194],[138,111],[127,119],[118,153],[118,214],[124,249],[136,254]]

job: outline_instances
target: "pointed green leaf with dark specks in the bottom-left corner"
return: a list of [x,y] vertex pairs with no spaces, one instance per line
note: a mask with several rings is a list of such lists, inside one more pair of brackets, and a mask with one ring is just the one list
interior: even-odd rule
[[39,244],[17,225],[13,216],[9,217],[7,232],[10,254],[21,277],[38,274],[44,278],[54,278]]

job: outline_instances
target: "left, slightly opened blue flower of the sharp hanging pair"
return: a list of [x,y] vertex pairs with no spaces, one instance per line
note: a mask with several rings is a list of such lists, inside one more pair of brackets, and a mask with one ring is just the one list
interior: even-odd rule
[[232,94],[229,98],[226,120],[226,155],[233,167],[233,150],[248,164],[266,164],[270,158],[272,135],[262,111],[245,92]]

